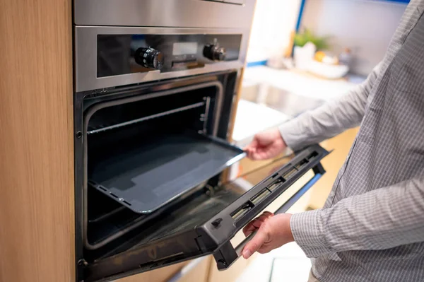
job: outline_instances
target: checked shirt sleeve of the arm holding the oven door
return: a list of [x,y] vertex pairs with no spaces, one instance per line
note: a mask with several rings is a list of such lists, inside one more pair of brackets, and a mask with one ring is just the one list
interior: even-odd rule
[[294,214],[290,228],[307,257],[423,242],[424,176]]

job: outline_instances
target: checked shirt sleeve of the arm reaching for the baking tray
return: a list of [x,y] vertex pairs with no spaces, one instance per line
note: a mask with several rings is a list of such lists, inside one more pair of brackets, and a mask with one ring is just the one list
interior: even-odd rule
[[363,119],[367,98],[377,79],[379,66],[380,64],[372,70],[364,83],[338,100],[327,102],[282,124],[279,129],[287,146],[296,151],[357,127]]

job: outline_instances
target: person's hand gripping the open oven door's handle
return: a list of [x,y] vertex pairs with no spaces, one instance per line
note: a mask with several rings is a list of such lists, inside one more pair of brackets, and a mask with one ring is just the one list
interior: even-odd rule
[[274,216],[273,213],[266,211],[246,225],[243,228],[245,236],[248,236],[254,230],[257,230],[257,233],[243,249],[243,257],[248,259],[254,252],[264,254],[288,242],[293,242],[290,218],[291,214],[289,213]]

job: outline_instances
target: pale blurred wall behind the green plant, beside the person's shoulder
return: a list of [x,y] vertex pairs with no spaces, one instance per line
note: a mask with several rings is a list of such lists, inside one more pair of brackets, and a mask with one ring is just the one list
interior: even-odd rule
[[406,4],[371,0],[307,0],[302,27],[331,35],[334,52],[350,47],[352,71],[367,75],[384,57]]

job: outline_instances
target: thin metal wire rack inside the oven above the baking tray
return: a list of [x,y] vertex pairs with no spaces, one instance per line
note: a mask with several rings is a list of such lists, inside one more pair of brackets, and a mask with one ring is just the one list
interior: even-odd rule
[[158,114],[151,114],[147,117],[141,117],[139,119],[132,119],[132,120],[129,120],[128,122],[120,122],[118,124],[107,125],[105,127],[100,127],[100,128],[91,128],[90,130],[87,131],[87,134],[96,134],[96,133],[106,131],[106,130],[110,130],[110,129],[117,129],[119,127],[125,127],[127,125],[136,124],[138,122],[145,122],[146,120],[149,120],[149,119],[164,117],[168,114],[175,114],[177,112],[192,110],[192,109],[195,109],[197,107],[203,107],[203,106],[206,106],[206,113],[204,114],[204,117],[201,117],[201,120],[203,120],[203,122],[204,122],[204,130],[205,130],[206,124],[207,124],[207,116],[206,115],[207,115],[207,112],[208,112],[210,100],[211,100],[211,98],[207,97],[207,98],[204,98],[204,101],[202,101],[202,102],[196,102],[194,104],[187,105],[187,106],[184,106],[184,107],[177,107],[176,109],[167,110],[165,112],[159,112]]

